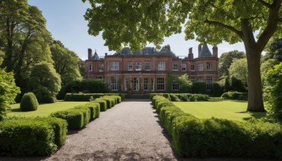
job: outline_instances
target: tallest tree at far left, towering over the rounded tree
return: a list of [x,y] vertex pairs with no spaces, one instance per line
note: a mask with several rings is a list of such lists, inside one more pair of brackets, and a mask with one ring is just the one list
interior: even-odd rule
[[30,68],[39,61],[51,62],[49,43],[42,12],[27,0],[0,2],[0,49],[4,52],[1,64],[6,71],[14,71],[16,85],[26,91]]

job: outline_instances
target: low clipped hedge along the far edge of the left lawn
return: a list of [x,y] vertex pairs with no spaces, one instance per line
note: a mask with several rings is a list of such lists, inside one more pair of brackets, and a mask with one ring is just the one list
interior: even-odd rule
[[67,93],[65,95],[64,100],[65,101],[89,101],[90,97],[93,97],[94,99],[103,97],[105,95],[110,96],[120,96],[118,97],[118,101],[121,102],[125,98],[125,95],[123,93]]

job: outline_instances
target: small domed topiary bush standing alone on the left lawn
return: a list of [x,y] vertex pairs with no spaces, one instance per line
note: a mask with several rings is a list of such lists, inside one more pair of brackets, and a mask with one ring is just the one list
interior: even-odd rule
[[20,110],[24,112],[36,111],[38,107],[37,98],[33,93],[25,93],[20,101]]

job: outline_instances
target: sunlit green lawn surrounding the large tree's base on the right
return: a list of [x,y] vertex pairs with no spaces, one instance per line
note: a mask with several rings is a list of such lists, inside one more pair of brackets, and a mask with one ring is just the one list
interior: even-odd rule
[[220,119],[247,120],[265,117],[265,112],[247,112],[247,101],[209,100],[209,102],[173,102],[183,112],[201,119],[211,117]]

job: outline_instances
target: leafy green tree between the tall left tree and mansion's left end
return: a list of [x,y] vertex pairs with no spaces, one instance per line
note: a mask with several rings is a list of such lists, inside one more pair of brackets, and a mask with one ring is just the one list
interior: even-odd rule
[[66,83],[81,79],[78,64],[80,60],[78,54],[64,47],[60,41],[54,41],[51,44],[51,54],[54,60],[54,68],[61,75],[63,85]]

